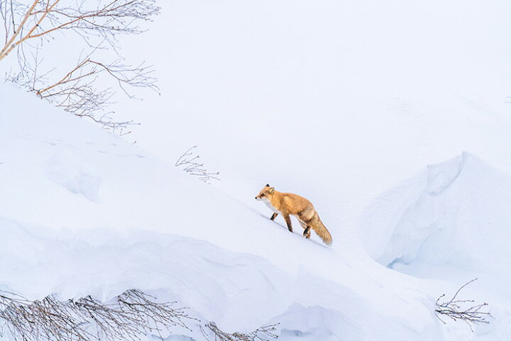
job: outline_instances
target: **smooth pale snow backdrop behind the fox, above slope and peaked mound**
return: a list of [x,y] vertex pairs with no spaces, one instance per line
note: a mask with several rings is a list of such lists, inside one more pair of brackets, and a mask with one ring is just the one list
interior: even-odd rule
[[155,65],[161,96],[116,111],[164,160],[198,145],[247,204],[270,182],[356,233],[375,196],[427,164],[466,150],[511,173],[506,0],[160,6],[147,34],[121,43]]

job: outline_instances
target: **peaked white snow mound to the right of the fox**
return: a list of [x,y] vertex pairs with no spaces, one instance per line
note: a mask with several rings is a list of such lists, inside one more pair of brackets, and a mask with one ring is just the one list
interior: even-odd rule
[[[380,264],[449,264],[472,271],[511,257],[511,177],[463,152],[376,199],[361,240]],[[392,213],[390,213],[392,212]]]

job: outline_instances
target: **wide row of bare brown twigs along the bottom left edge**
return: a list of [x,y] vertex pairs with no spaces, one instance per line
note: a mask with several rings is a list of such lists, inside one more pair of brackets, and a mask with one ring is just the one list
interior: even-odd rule
[[114,303],[102,303],[91,296],[58,301],[53,295],[29,301],[0,291],[0,318],[15,340],[140,340],[140,335],[148,332],[160,335],[162,328],[180,325],[189,329],[185,320],[195,319],[174,304],[157,303],[139,290],[123,292]]

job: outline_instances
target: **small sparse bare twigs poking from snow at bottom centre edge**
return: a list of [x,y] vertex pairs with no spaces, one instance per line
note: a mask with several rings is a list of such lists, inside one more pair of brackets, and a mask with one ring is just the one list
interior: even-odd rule
[[204,325],[204,327],[201,326],[201,331],[204,338],[208,341],[270,341],[271,339],[278,338],[278,335],[275,335],[277,325],[278,323],[274,325],[265,325],[253,332],[248,332],[247,334],[242,332],[229,334],[229,332],[220,330],[215,323],[210,322],[207,325]]

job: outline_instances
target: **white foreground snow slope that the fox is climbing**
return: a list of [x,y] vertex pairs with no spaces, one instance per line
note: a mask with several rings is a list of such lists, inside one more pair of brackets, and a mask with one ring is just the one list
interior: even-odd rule
[[102,299],[138,288],[226,330],[280,322],[280,340],[471,337],[432,313],[455,284],[382,267],[349,235],[334,248],[290,235],[265,207],[13,86],[0,94],[2,288]]

